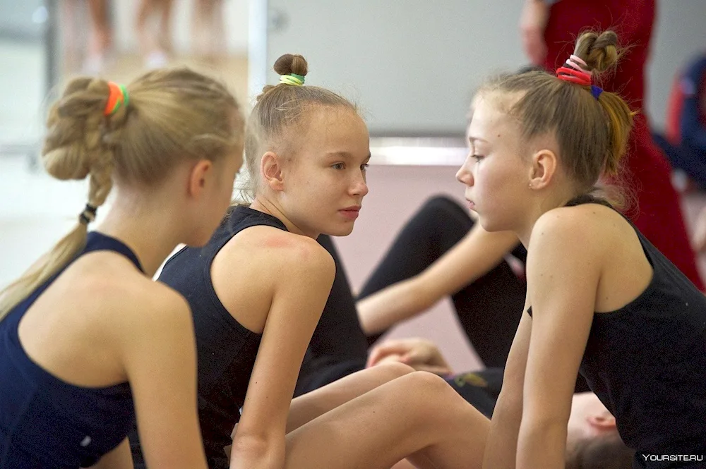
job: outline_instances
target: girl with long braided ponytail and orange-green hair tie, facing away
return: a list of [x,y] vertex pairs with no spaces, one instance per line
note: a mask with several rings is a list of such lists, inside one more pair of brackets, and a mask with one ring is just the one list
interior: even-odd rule
[[47,126],[44,166],[88,177],[88,203],[0,293],[0,467],[131,468],[137,419],[152,469],[205,468],[189,305],[152,276],[222,219],[243,162],[239,106],[186,68],[126,87],[77,78]]

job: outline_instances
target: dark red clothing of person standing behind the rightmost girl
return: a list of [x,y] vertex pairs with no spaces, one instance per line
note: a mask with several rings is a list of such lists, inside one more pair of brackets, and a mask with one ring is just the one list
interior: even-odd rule
[[623,163],[623,178],[636,199],[636,206],[628,209],[626,215],[703,291],[680,200],[671,185],[671,167],[652,140],[642,106],[654,14],[654,0],[558,1],[551,7],[544,34],[548,49],[544,66],[553,71],[562,66],[573,52],[579,33],[587,29],[614,30],[621,44],[629,47],[614,75],[603,78],[601,83],[604,90],[618,92],[640,113],[635,118]]

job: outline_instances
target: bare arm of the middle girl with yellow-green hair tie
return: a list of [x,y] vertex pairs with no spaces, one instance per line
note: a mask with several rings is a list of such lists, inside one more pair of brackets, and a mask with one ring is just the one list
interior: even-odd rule
[[304,352],[328,298],[335,264],[306,240],[275,259],[275,291],[243,413],[231,450],[231,468],[280,469],[294,385]]

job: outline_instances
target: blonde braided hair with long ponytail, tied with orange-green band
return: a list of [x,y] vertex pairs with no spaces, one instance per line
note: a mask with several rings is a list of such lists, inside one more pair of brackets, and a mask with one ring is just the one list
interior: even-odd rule
[[105,116],[108,82],[76,78],[50,109],[44,168],[62,180],[88,176],[88,205],[52,250],[0,292],[0,320],[83,249],[88,222],[110,193],[113,177],[155,185],[186,159],[216,161],[242,144],[239,106],[213,78],[169,68],[146,73],[126,90],[128,104]]

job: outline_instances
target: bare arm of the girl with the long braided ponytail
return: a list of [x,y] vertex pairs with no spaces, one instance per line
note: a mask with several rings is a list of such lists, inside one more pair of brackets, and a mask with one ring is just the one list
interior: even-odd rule
[[196,410],[196,344],[189,305],[155,284],[133,319],[124,357],[150,469],[206,469]]

